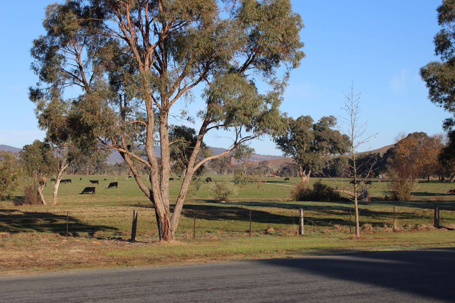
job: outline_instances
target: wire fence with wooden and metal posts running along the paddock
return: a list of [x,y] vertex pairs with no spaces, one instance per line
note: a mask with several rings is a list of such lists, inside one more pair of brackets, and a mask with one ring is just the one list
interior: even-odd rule
[[[192,205],[195,207],[195,205]],[[353,233],[354,209],[351,207],[308,206],[299,208],[218,207],[212,209],[185,208],[177,236],[203,238],[209,235],[249,236],[293,235],[310,232]],[[131,216],[131,210],[133,214]],[[141,209],[99,209],[51,212],[0,211],[0,232],[59,233],[66,237],[116,237],[135,240],[139,236],[157,237],[155,211]],[[172,209],[171,209],[172,211]],[[406,209],[388,206],[381,209],[359,209],[359,225],[364,231],[415,229],[434,226],[455,229],[455,210],[436,204],[434,209]],[[382,229],[381,229],[382,228]]]

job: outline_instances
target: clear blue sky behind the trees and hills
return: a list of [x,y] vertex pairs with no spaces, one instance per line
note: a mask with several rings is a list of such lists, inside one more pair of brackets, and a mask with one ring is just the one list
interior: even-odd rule
[[[37,78],[30,71],[31,41],[44,34],[44,8],[51,1],[26,5],[1,1],[0,144],[22,147],[44,133],[37,128],[27,87]],[[392,144],[400,132],[442,132],[448,117],[427,99],[419,69],[435,60],[433,36],[439,30],[440,0],[306,1],[294,0],[293,10],[305,24],[301,40],[307,55],[291,74],[282,110],[297,118],[342,114],[351,81],[361,92],[362,117],[369,132],[379,133],[364,149]],[[190,108],[200,107],[199,95]],[[225,136],[225,134],[219,134]],[[229,139],[206,137],[210,146],[228,147]],[[258,154],[280,155],[268,138],[255,141]]]

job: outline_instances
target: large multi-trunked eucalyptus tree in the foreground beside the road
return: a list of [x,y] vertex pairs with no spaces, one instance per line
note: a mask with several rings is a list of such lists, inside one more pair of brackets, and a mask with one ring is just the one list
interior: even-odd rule
[[[197,169],[283,131],[283,90],[304,57],[303,23],[289,0],[67,0],[46,8],[43,26],[31,49],[40,81],[30,98],[41,108],[69,104],[71,138],[83,152],[121,154],[155,208],[162,240],[174,238]],[[194,89],[203,102],[189,113]],[[169,119],[178,117],[200,127],[171,213]],[[198,159],[204,136],[217,129],[232,132],[232,145]]]

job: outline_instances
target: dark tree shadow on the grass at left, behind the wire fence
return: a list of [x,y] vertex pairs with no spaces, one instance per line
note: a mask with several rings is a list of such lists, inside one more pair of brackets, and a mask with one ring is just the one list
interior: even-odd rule
[[48,212],[26,212],[20,210],[0,209],[0,232],[8,233],[59,233],[66,235],[68,219],[68,235],[79,236],[88,233],[93,237],[99,231],[116,232],[118,228],[107,225],[92,225],[82,222],[73,216],[58,215]]

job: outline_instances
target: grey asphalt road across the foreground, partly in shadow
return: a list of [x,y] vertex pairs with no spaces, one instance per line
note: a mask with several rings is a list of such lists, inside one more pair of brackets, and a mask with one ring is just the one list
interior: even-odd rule
[[454,302],[455,248],[0,278],[0,302]]

